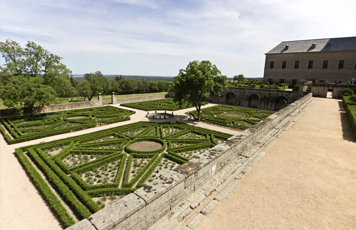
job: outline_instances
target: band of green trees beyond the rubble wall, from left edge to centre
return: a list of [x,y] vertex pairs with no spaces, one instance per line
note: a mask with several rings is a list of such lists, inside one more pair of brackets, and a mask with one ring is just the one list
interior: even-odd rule
[[23,107],[48,105],[56,99],[70,101],[83,96],[90,101],[99,93],[109,95],[156,93],[167,90],[167,81],[147,81],[131,78],[105,77],[100,71],[87,73],[85,80],[78,82],[62,58],[49,53],[34,42],[25,48],[19,43],[6,40],[0,42],[0,52],[5,64],[0,67],[0,95],[2,103],[22,114]]

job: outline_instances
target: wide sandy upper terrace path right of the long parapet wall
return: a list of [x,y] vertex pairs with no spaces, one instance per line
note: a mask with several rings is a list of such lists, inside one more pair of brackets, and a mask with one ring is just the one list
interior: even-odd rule
[[340,104],[316,99],[196,229],[356,229],[356,141]]

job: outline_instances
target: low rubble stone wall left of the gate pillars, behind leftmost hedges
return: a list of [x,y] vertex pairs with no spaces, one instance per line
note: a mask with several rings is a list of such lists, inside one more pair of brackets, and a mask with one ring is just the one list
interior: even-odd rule
[[[57,105],[44,105],[44,106],[35,106],[33,108],[25,107],[23,108],[23,115],[29,114],[38,114],[38,113],[49,113],[60,110],[68,110],[68,109],[80,109],[87,107],[94,107],[103,105],[102,100],[98,101],[79,101],[79,102],[71,102],[65,104],[57,104]],[[8,116],[17,116],[15,109],[1,109],[0,117],[8,117]]]

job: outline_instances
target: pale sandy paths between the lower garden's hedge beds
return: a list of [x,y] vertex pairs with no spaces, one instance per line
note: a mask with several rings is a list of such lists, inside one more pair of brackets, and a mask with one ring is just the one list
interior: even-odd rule
[[[203,108],[215,106],[216,104],[207,104]],[[15,148],[33,145],[40,142],[58,140],[61,138],[88,134],[99,130],[131,124],[138,121],[147,121],[145,117],[147,112],[137,109],[131,109],[120,105],[112,105],[122,109],[136,111],[131,115],[131,120],[119,123],[94,127],[91,129],[79,130],[67,134],[45,137],[37,140],[7,145],[4,137],[0,135],[0,229],[11,230],[59,230],[63,229],[51,210],[38,193],[35,186],[31,183],[26,172],[23,170],[20,162],[15,156]],[[197,125],[211,130],[226,132],[232,135],[238,134],[239,131],[225,129],[222,127],[212,126],[204,123],[197,123],[188,120],[189,116],[185,113],[192,111],[194,108],[174,111],[175,117],[167,121],[182,121],[191,125]],[[150,111],[152,113],[154,111]],[[156,120],[155,120],[156,121]]]

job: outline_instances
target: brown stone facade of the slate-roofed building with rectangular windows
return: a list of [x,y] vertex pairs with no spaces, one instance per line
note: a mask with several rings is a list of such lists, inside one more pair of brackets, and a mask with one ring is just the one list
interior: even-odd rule
[[[323,61],[328,60],[328,68],[323,69]],[[345,60],[343,69],[339,69],[339,60]],[[270,68],[271,61],[274,67]],[[287,61],[286,68],[282,68],[282,61]],[[299,68],[294,68],[295,61],[299,61]],[[313,62],[313,68],[308,69],[308,62]],[[266,54],[265,73],[263,81],[273,83],[299,84],[300,80],[329,81],[330,83],[347,83],[356,79],[356,51],[342,52],[303,52],[303,53],[270,53]],[[281,80],[282,79],[282,80]],[[294,81],[293,81],[294,79]]]

